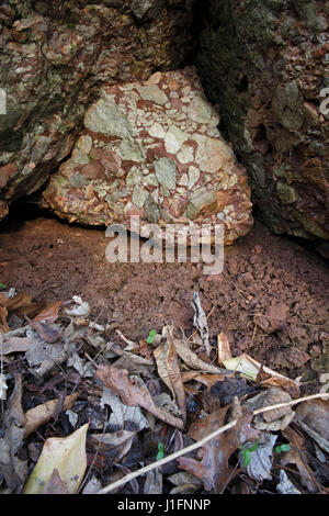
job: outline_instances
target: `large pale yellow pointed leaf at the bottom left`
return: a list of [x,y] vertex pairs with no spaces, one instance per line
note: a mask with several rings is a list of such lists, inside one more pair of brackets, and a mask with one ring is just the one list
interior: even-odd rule
[[86,436],[88,424],[68,437],[50,437],[24,486],[23,494],[43,494],[54,470],[69,494],[79,490],[87,468]]

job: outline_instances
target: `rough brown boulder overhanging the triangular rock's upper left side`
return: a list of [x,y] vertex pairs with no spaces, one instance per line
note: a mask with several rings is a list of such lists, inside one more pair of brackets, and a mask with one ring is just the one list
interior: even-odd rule
[[193,2],[0,2],[0,220],[69,155],[102,83],[185,65]]

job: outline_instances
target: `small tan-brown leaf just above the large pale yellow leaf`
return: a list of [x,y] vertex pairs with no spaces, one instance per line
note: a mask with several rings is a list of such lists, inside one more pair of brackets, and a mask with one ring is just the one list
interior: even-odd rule
[[[79,395],[79,392],[75,392],[69,396],[66,396],[61,412],[69,411],[73,406],[76,400],[78,400]],[[54,416],[57,406],[58,400],[50,400],[49,402],[43,403],[42,405],[37,405],[34,408],[31,408],[31,411],[27,411],[25,413],[24,437],[30,436],[30,434],[35,431],[39,426],[48,423]]]

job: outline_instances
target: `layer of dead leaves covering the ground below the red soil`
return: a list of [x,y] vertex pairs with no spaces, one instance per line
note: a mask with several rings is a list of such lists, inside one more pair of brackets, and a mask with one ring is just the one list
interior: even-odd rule
[[192,306],[189,337],[167,324],[135,343],[78,295],[1,292],[0,492],[328,493],[325,389],[300,397],[234,357],[198,292]]

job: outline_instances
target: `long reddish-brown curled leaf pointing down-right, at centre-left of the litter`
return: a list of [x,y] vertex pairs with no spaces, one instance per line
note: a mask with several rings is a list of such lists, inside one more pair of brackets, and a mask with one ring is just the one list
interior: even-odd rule
[[125,405],[141,406],[169,425],[183,429],[182,419],[157,406],[148,390],[138,383],[137,377],[129,378],[126,369],[118,369],[115,366],[99,366],[97,377],[107,389],[117,394]]

